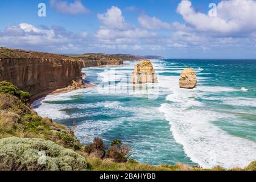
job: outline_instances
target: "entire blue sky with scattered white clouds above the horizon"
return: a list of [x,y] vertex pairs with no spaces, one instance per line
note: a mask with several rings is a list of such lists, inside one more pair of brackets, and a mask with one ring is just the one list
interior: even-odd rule
[[0,47],[256,59],[256,0],[1,0],[0,17]]

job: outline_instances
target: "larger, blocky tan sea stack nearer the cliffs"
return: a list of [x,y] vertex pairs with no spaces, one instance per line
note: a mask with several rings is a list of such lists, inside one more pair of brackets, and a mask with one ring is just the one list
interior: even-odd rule
[[146,84],[157,82],[157,78],[155,76],[155,69],[150,60],[143,60],[141,63],[137,63],[135,65],[131,82],[133,84]]

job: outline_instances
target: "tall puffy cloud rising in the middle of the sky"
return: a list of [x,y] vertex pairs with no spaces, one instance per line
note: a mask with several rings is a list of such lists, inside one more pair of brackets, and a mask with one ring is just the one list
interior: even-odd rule
[[155,45],[158,36],[154,31],[125,22],[121,9],[112,6],[104,14],[98,14],[101,27],[94,34],[94,43],[90,46],[105,49],[156,50],[162,46]]

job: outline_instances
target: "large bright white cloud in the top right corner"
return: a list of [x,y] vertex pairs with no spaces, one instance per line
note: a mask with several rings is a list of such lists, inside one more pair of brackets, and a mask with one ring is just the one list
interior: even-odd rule
[[177,7],[177,13],[183,16],[188,26],[197,31],[216,32],[218,34],[250,33],[256,30],[256,1],[229,0],[217,5],[217,16],[196,12],[191,1],[183,0]]

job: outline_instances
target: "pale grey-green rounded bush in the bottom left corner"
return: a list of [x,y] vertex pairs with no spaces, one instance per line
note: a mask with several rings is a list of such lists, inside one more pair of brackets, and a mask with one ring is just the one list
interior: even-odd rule
[[[46,153],[40,164],[39,152]],[[83,156],[44,139],[0,139],[0,170],[3,171],[80,171],[88,167]]]

